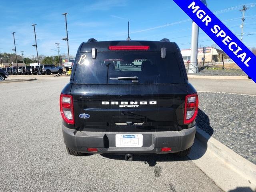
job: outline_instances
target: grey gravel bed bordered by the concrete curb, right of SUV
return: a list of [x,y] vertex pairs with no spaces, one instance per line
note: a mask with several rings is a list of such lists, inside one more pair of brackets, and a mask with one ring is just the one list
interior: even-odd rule
[[256,96],[200,92],[199,128],[256,164]]

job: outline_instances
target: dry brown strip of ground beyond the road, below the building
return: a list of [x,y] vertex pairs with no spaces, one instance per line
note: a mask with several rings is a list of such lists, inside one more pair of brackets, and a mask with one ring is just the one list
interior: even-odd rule
[[[187,70],[188,72],[188,70]],[[207,69],[201,69],[198,73],[192,73],[189,75],[205,75],[205,76],[247,76],[241,69],[224,68],[219,66],[211,66]]]

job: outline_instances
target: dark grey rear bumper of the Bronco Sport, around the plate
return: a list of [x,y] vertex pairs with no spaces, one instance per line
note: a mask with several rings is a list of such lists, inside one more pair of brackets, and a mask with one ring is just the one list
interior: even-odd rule
[[[62,133],[68,148],[83,153],[163,154],[179,152],[190,148],[194,143],[196,126],[181,131],[136,132],[136,134],[143,135],[143,146],[125,148],[116,147],[116,134],[121,134],[120,132],[81,132],[67,128],[62,124]],[[161,152],[163,147],[170,147],[172,150]],[[97,148],[98,152],[87,152],[87,148]]]

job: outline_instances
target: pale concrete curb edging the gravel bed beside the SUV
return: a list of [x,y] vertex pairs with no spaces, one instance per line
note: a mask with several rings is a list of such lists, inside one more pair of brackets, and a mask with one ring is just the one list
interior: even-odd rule
[[252,184],[256,184],[256,165],[246,160],[218,140],[211,137],[202,129],[196,129],[196,138],[207,146],[207,150],[211,150],[220,158],[228,167],[240,176],[250,180]]

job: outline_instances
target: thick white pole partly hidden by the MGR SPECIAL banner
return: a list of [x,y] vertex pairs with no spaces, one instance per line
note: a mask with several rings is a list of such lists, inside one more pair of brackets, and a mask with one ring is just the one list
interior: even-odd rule
[[[206,5],[206,0],[201,0],[203,4]],[[190,54],[190,64],[188,65],[188,73],[197,73],[198,72],[198,63],[197,63],[197,52],[198,52],[198,25],[192,21],[192,30],[191,30],[191,54]]]

